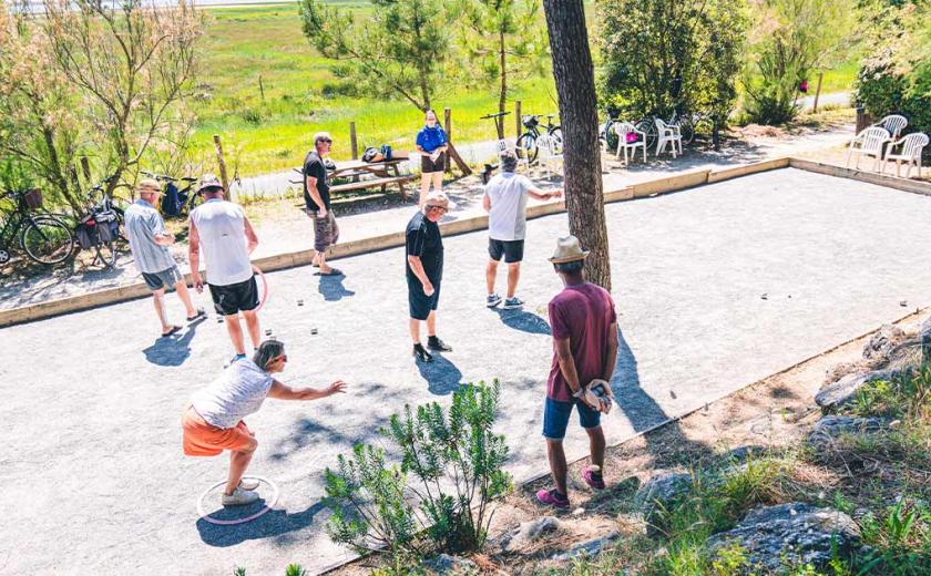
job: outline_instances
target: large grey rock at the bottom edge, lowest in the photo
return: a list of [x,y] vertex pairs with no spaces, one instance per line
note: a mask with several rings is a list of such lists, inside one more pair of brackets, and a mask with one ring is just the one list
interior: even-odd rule
[[859,538],[860,531],[847,514],[790,503],[750,511],[734,529],[712,536],[705,546],[713,555],[740,546],[748,562],[745,573],[757,574],[784,569],[785,559],[822,569],[832,557],[833,542],[838,553],[847,555]]

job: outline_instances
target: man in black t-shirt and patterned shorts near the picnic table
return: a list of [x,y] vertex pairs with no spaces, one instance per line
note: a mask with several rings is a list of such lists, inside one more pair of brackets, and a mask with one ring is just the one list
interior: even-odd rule
[[330,210],[329,175],[324,157],[329,154],[332,138],[326,132],[314,135],[314,150],[304,158],[304,204],[307,215],[314,220],[313,265],[320,268],[320,276],[338,276],[342,272],[327,264],[327,248],[339,240],[339,226]]

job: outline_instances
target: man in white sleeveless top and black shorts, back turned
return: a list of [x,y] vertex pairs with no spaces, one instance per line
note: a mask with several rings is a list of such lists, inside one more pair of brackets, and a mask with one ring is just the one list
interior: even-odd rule
[[204,174],[197,186],[204,204],[191,213],[188,223],[188,258],[194,287],[204,290],[201,279],[201,245],[206,251],[207,287],[216,313],[226,320],[226,331],[236,350],[235,360],[246,357],[239,312],[246,320],[253,348],[259,343],[258,286],[255,282],[249,254],[258,246],[258,237],[243,208],[223,198],[223,184],[213,174]]

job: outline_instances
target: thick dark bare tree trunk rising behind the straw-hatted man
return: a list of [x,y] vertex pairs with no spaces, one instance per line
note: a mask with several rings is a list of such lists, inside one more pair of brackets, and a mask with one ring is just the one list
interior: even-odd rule
[[611,290],[595,75],[582,1],[543,0],[543,9],[565,142],[569,229],[592,253],[585,264],[587,279]]

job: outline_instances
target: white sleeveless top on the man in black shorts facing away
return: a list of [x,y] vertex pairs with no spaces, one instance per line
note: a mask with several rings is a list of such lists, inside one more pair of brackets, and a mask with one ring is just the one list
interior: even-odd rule
[[245,214],[232,202],[212,198],[191,213],[207,260],[207,284],[229,286],[252,278]]

